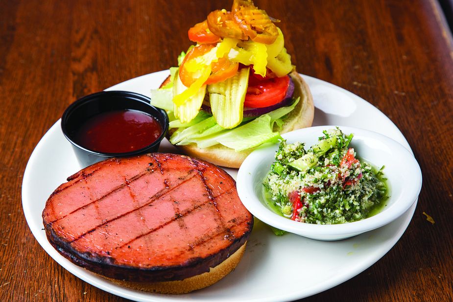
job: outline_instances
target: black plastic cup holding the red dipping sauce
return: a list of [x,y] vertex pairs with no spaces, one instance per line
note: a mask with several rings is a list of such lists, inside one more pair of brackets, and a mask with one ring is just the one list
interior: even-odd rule
[[[150,98],[139,93],[127,91],[102,91],[79,98],[73,102],[61,117],[61,129],[74,149],[79,163],[83,166],[100,162],[109,157],[130,157],[143,153],[155,152],[168,131],[168,116],[165,110],[150,105]],[[160,123],[162,134],[142,149],[126,153],[103,153],[81,146],[74,140],[75,133],[87,119],[103,112],[113,110],[138,110],[147,113]],[[115,135],[108,133],[106,135]]]

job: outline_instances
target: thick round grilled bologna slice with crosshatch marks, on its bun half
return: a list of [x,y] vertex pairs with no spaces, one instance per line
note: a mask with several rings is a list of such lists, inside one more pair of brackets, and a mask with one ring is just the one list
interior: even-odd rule
[[[73,263],[126,286],[169,293],[223,278],[253,226],[230,175],[166,153],[82,169],[50,195],[43,220],[49,242]],[[233,254],[237,260],[225,261]],[[235,263],[218,274],[223,262]],[[215,267],[218,279],[181,288]],[[173,281],[177,286],[168,289]]]

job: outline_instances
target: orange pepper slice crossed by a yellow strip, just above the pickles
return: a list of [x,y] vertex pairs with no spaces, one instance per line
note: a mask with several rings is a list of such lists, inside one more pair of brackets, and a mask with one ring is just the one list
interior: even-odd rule
[[[184,84],[184,86],[190,87],[201,75],[201,72],[187,71],[187,69],[184,67],[184,64],[193,58],[202,56],[203,54],[207,53],[214,47],[215,44],[200,44],[198,46],[193,47],[191,51],[189,51],[189,53],[186,54],[183,63],[179,68],[179,78],[181,79],[181,82]],[[234,76],[238,71],[238,67],[239,67],[238,63],[231,62],[227,58],[220,58],[218,59],[217,62],[211,63],[212,73],[204,84],[208,85],[224,81]]]

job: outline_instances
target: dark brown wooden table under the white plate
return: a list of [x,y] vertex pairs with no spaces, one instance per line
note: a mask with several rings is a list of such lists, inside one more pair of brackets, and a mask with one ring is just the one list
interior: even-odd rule
[[[417,209],[393,249],[357,277],[304,301],[452,301],[453,39],[440,6],[256,2],[283,20],[298,71],[378,107],[405,135],[423,172]],[[124,301],[74,277],[34,239],[21,205],[25,165],[75,99],[175,65],[191,44],[188,28],[230,6],[230,0],[0,3],[0,301]]]

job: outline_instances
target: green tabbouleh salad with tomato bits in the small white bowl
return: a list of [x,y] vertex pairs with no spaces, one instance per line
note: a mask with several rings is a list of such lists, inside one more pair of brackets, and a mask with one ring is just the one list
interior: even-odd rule
[[269,206],[295,221],[339,224],[369,217],[387,199],[382,169],[356,158],[338,127],[323,131],[317,144],[281,141],[263,181]]

